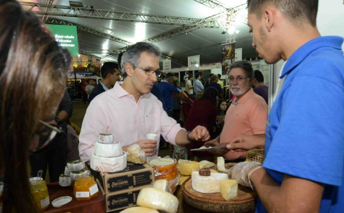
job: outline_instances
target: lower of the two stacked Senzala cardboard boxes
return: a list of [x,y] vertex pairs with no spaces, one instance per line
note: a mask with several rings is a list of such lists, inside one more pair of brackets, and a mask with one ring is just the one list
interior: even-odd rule
[[[104,189],[99,183],[99,179],[97,179],[96,182],[100,186],[100,191],[104,194]],[[106,212],[108,213],[136,206],[136,200],[139,196],[140,190],[146,187],[153,187],[153,185],[145,185],[136,187],[134,189],[127,189],[120,192],[105,194],[104,196]]]

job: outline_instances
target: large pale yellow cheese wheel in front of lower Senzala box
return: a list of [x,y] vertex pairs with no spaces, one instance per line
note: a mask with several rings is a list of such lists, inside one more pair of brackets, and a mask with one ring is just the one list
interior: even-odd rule
[[176,213],[179,202],[172,194],[149,187],[141,189],[136,204],[167,213]]

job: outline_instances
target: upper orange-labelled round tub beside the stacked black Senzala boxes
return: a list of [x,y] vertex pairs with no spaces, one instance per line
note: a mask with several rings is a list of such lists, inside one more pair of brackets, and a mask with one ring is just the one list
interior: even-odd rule
[[173,158],[156,158],[149,161],[154,167],[155,180],[173,180],[178,175],[177,161]]

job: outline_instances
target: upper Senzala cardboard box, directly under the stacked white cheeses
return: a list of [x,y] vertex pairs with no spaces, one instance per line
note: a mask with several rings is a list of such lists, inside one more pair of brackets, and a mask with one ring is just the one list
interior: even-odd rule
[[127,162],[123,171],[115,173],[99,173],[99,181],[102,183],[105,194],[118,193],[123,190],[134,190],[144,185],[154,183],[154,168],[149,164],[133,164]]

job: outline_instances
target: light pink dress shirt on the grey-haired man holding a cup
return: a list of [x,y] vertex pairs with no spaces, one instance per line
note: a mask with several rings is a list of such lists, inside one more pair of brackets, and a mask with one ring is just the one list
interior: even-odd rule
[[[80,159],[89,162],[99,133],[111,133],[121,146],[127,146],[146,134],[155,133],[175,144],[177,133],[183,129],[170,118],[161,102],[152,93],[142,95],[136,103],[135,97],[116,82],[113,89],[97,95],[86,110],[79,136]],[[157,157],[159,140],[154,156]]]

